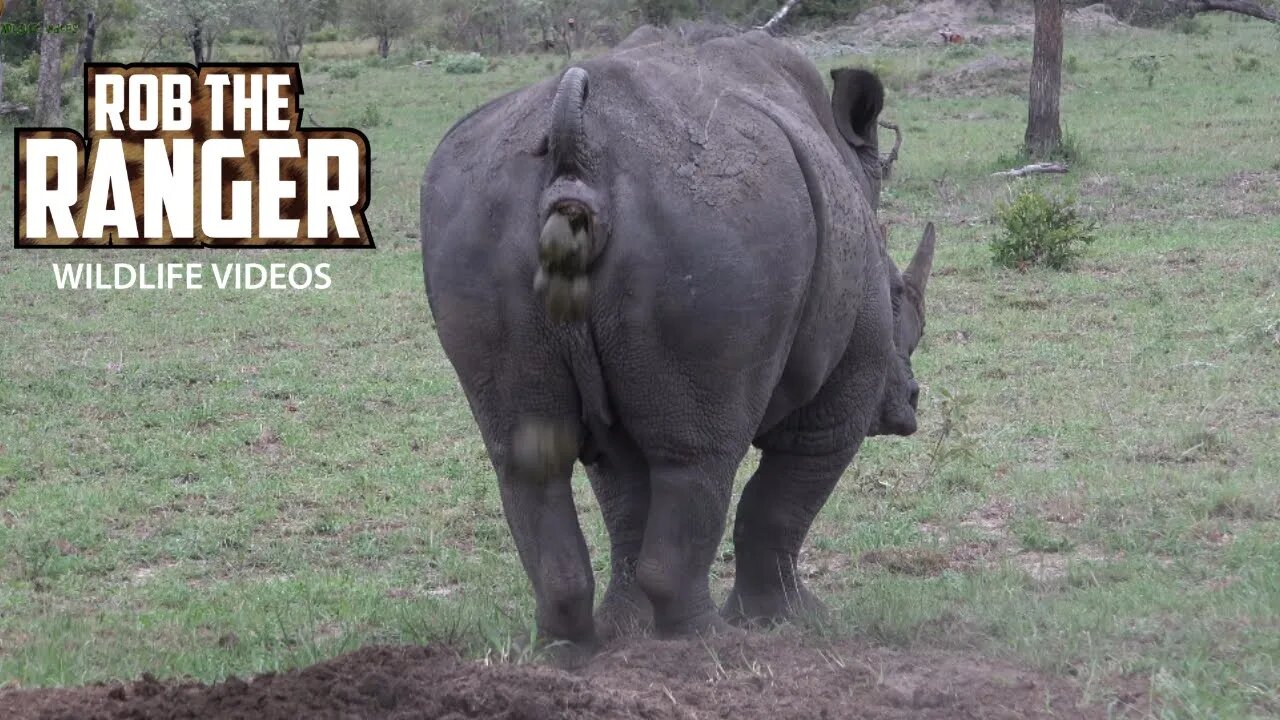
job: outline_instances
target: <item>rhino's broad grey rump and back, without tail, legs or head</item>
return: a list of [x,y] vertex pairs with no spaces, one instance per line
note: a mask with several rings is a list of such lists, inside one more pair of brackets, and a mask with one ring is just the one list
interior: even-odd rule
[[[616,414],[639,434],[660,432],[673,413],[703,413],[708,428],[785,414],[818,391],[849,342],[873,215],[815,106],[817,72],[762,42],[649,44],[581,64],[595,159],[584,179],[611,218],[591,269],[589,350]],[[424,269],[445,350],[467,348],[451,352],[456,366],[467,363],[456,355],[517,342],[564,351],[531,288],[554,88],[477,111],[429,165]],[[815,181],[829,196],[826,218]],[[689,402],[673,404],[677,395]]]

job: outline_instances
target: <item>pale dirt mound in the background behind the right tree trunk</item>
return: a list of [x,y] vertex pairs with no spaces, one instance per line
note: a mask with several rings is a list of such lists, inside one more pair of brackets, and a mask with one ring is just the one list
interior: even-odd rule
[[[1068,10],[1065,20],[1069,31],[1102,32],[1128,27],[1115,19],[1101,3]],[[963,45],[982,45],[992,40],[1030,38],[1034,31],[1036,17],[1030,4],[933,0],[902,13],[887,6],[870,8],[846,27],[815,32],[795,38],[794,42],[810,56],[826,56],[867,51],[877,46],[945,45],[947,41],[943,32]]]

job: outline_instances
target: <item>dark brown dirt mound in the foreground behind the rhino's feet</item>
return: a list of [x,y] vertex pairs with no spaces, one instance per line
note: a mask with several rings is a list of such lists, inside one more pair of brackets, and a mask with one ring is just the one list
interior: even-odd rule
[[[311,667],[215,685],[159,682],[0,691],[9,720],[201,719],[1028,719],[1107,717],[1071,680],[959,653],[783,637],[643,639],[571,673],[467,662],[438,647],[369,647]],[[1146,700],[1112,693],[1112,712]]]

